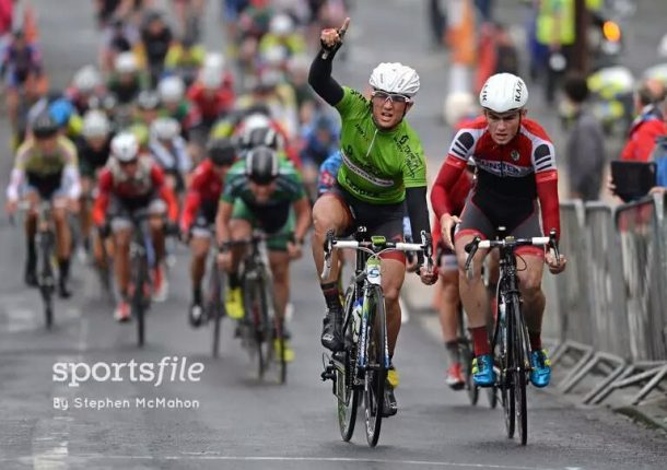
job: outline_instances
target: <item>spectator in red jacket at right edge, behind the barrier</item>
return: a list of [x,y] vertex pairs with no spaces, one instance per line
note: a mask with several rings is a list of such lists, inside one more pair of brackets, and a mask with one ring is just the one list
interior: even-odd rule
[[656,103],[665,98],[665,85],[655,79],[645,80],[634,94],[637,117],[632,122],[621,160],[648,162],[655,148],[655,140],[667,134],[667,125]]

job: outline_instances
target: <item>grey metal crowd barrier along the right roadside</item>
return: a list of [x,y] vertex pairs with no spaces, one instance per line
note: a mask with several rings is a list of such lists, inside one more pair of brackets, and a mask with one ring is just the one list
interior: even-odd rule
[[[667,221],[662,196],[612,210],[600,202],[561,203],[561,251],[567,269],[546,282],[545,336],[552,363],[574,354],[559,384],[571,391],[589,374],[604,379],[584,402],[642,385],[633,403],[667,376]],[[546,278],[547,281],[547,278]]]

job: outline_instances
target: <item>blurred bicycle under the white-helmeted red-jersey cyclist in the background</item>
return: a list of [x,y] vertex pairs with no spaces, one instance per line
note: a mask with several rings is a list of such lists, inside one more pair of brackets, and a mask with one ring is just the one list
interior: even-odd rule
[[145,341],[145,313],[151,306],[151,267],[155,266],[155,250],[149,230],[149,220],[154,216],[147,210],[138,210],[130,215],[132,240],[130,242],[130,309],[137,320],[137,343]]

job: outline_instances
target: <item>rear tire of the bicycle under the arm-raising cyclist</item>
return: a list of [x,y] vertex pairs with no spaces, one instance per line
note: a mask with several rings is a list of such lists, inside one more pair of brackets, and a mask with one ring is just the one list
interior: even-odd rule
[[[346,320],[343,322],[343,338],[352,339],[351,329],[354,328],[353,318],[351,318],[352,307],[354,305],[354,287],[348,287],[346,292],[344,309]],[[356,423],[356,410],[359,407],[360,391],[354,387],[354,379],[356,378],[356,343],[346,341],[346,349],[343,352],[343,365],[344,371],[342,374],[337,369],[336,374],[336,386],[339,387],[339,380],[343,380],[342,387],[344,388],[344,400],[341,400],[337,395],[337,414],[338,414],[338,427],[340,430],[340,436],[347,443],[352,438],[354,434],[354,425]]]

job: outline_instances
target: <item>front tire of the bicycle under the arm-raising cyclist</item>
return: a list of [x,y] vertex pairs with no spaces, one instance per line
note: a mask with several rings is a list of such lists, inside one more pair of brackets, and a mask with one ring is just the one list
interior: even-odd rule
[[375,447],[382,428],[383,407],[385,402],[385,380],[387,365],[387,317],[385,303],[379,286],[371,287],[372,315],[366,325],[366,371],[364,375],[364,411],[366,422],[366,440]]

